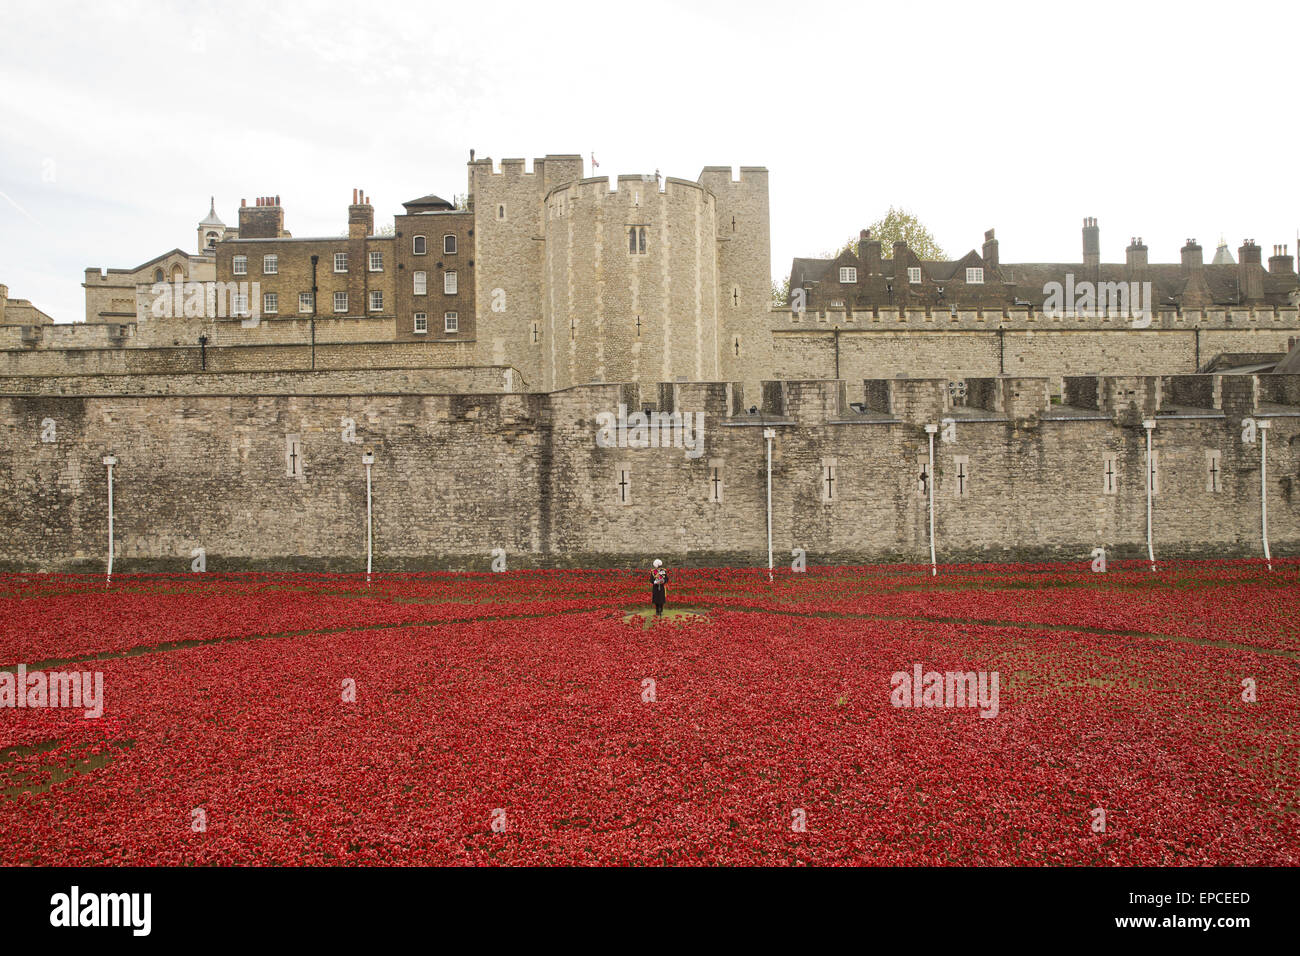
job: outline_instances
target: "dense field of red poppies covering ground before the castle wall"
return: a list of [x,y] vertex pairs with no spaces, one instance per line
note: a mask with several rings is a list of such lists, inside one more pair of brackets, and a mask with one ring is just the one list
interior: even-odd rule
[[4,575],[0,862],[1300,865],[1297,572]]

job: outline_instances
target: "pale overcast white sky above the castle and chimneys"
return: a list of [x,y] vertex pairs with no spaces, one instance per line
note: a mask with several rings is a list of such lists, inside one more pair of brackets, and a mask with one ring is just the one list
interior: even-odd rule
[[216,195],[295,235],[465,191],[465,160],[771,170],[772,272],[890,206],[950,255],[1295,254],[1300,4],[0,0],[0,282],[58,321],[87,267],[192,250]]

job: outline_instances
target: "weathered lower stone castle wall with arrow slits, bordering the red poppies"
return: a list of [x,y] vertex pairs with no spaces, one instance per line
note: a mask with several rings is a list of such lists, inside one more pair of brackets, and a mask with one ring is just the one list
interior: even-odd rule
[[[1300,376],[1070,377],[1070,406],[1050,399],[1045,378],[972,378],[962,407],[949,406],[945,380],[876,380],[862,384],[864,414],[846,405],[844,384],[826,381],[768,382],[762,399],[725,384],[497,395],[285,385],[255,395],[0,397],[0,563],[101,570],[101,459],[113,454],[118,570],[183,571],[203,548],[213,571],[355,571],[365,562],[365,450],[376,455],[378,570],[488,570],[497,548],[510,567],[655,555],[762,563],[764,427],[776,432],[777,561],[793,548],[812,563],[926,561],[924,425],[944,419],[940,562],[1087,561],[1098,546],[1144,555],[1149,416],[1157,558],[1261,553],[1261,444],[1244,441],[1245,418],[1271,425],[1273,553],[1300,553]],[[620,402],[703,412],[701,454],[598,446],[597,416]],[[290,436],[300,477],[289,473]]]

